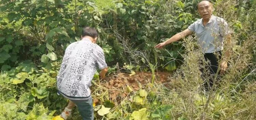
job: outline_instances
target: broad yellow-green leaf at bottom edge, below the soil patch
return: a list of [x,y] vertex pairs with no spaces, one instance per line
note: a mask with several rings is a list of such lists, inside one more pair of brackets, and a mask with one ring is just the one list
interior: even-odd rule
[[146,108],[142,108],[139,111],[133,111],[130,120],[148,120],[149,113]]

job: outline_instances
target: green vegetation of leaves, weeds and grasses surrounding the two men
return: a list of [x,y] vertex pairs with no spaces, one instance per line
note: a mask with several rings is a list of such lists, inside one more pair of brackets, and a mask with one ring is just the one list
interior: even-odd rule
[[[95,119],[255,120],[255,0],[213,0],[213,14],[224,18],[232,32],[232,51],[228,70],[211,94],[202,90],[209,77],[200,77],[200,69],[208,63],[202,61],[194,35],[154,48],[200,19],[198,1],[1,0],[0,119],[46,120],[61,113],[68,102],[56,88],[62,56],[70,43],[80,40],[81,28],[92,26],[100,33],[97,44],[110,76],[151,73],[146,84],[138,83],[139,89],[128,83],[116,87],[127,93],[116,99],[113,89],[103,85],[108,81],[96,73]],[[165,84],[159,81],[160,71],[172,73]],[[71,119],[81,119],[76,109],[72,114]]]

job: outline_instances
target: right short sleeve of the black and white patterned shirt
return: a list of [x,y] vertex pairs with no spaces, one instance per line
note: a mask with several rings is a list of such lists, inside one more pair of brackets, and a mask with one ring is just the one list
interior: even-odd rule
[[98,64],[99,69],[104,69],[107,67],[105,56],[102,49],[99,49],[96,52],[96,63]]

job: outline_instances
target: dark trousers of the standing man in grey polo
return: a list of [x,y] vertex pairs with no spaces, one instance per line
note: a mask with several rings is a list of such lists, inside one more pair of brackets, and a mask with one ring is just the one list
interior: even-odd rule
[[[203,73],[203,78],[207,79],[209,78],[209,81],[205,80],[204,81],[204,88],[209,90],[213,86],[213,80],[214,76],[217,73],[218,65],[219,65],[219,60],[221,60],[221,51],[217,52],[217,54],[214,53],[205,53],[204,60],[205,61],[210,61],[210,64],[206,65],[204,69],[201,69],[201,72]],[[219,72],[218,72],[219,75]]]

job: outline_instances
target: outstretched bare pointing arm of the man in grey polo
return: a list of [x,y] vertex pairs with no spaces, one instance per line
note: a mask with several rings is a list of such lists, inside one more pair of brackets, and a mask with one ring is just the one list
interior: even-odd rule
[[174,36],[172,36],[170,39],[166,40],[165,42],[162,42],[162,43],[159,43],[155,46],[155,48],[163,48],[164,46],[172,43],[172,42],[175,42],[175,41],[178,41],[180,40],[181,38],[184,38],[186,37],[187,35],[189,34],[192,34],[193,31],[190,31],[189,29],[185,29],[184,31],[180,32],[180,33],[177,33],[175,34]]

